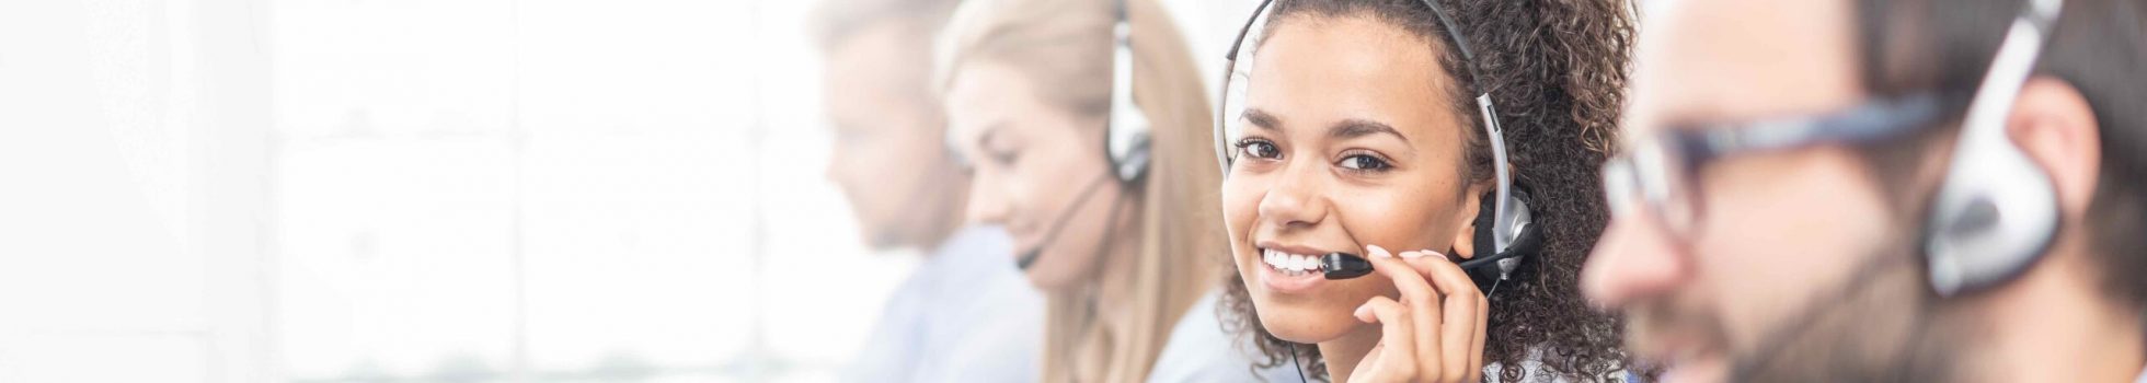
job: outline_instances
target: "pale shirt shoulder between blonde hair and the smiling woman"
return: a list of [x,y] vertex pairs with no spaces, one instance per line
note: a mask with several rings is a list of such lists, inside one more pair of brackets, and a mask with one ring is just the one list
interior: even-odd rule
[[1237,334],[1224,332],[1222,317],[1215,310],[1219,300],[1219,289],[1200,295],[1200,302],[1194,302],[1185,310],[1185,317],[1170,327],[1170,340],[1164,342],[1164,353],[1155,357],[1155,368],[1149,368],[1149,381],[1299,381],[1297,366],[1290,364],[1252,368],[1258,351],[1252,349],[1252,342],[1239,342]]

